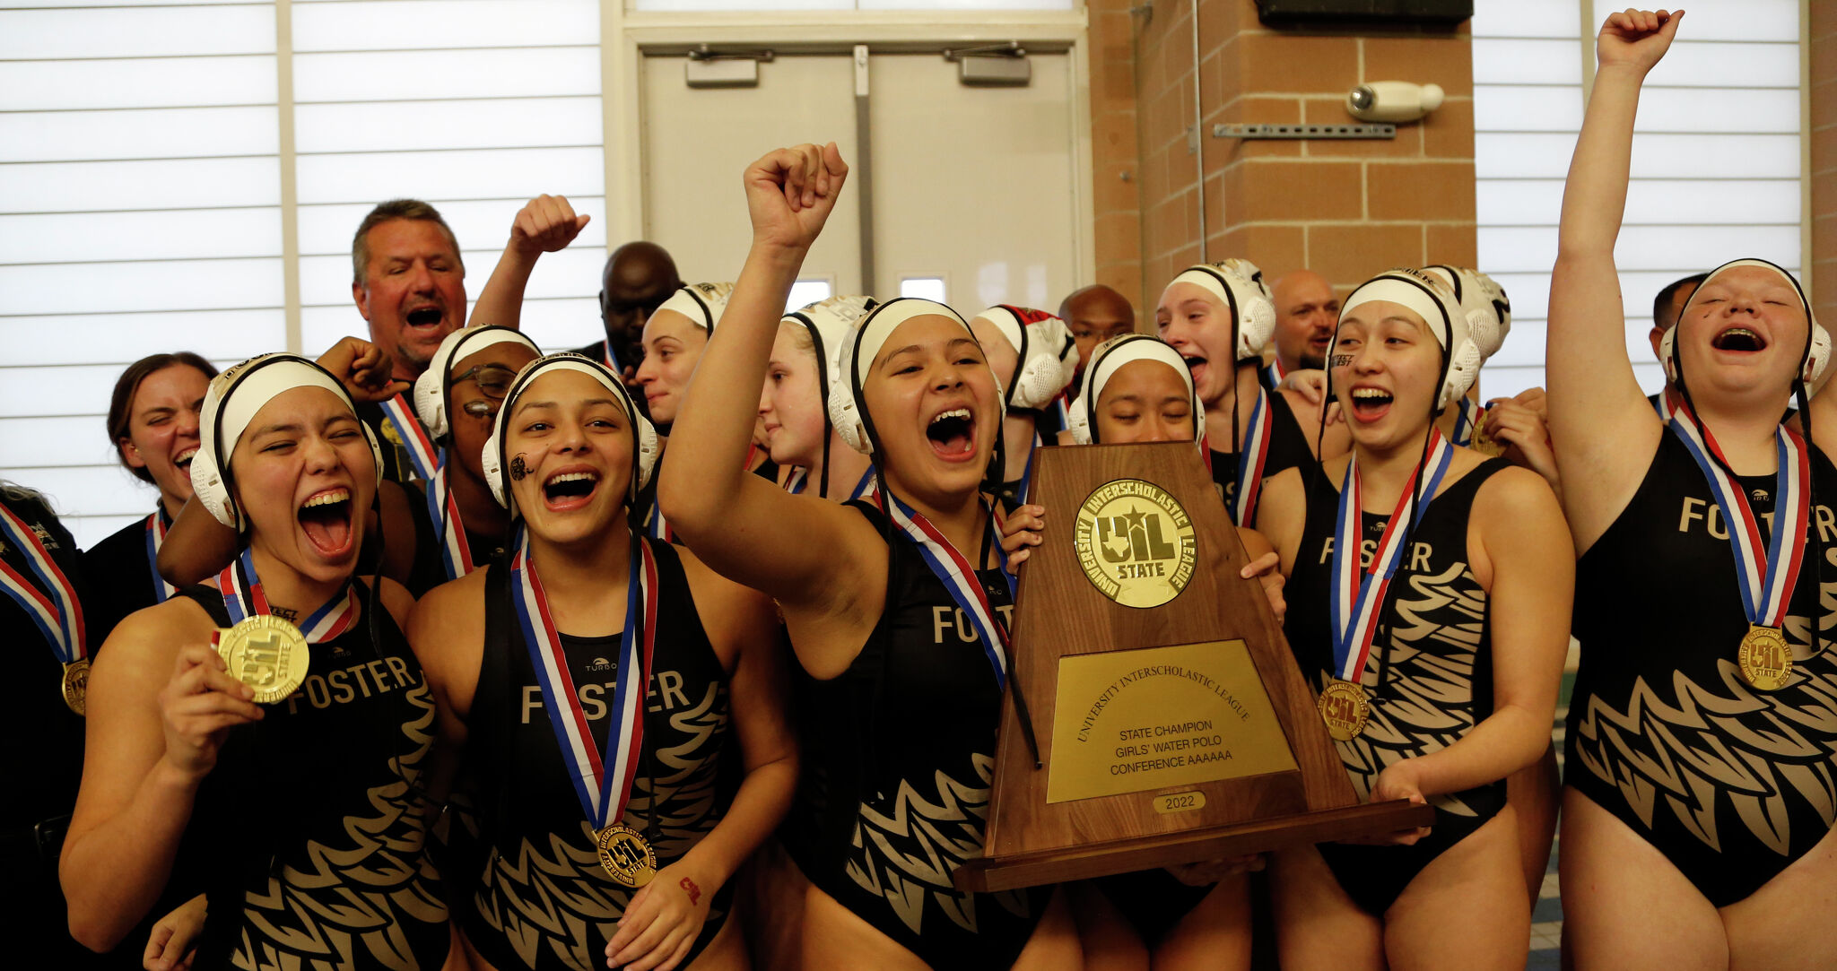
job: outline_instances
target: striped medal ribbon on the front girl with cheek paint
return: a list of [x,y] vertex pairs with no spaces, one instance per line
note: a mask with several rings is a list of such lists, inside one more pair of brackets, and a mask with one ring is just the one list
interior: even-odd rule
[[[636,540],[632,547],[632,573],[625,589],[625,633],[619,635],[617,685],[612,696],[614,721],[606,729],[604,754],[593,745],[593,729],[580,710],[562,637],[555,630],[547,595],[542,593],[535,560],[529,556],[527,534],[520,538],[516,558],[511,560],[516,624],[524,633],[531,666],[536,668],[536,681],[542,683],[542,703],[547,707],[562,760],[569,767],[568,780],[573,782],[580,809],[586,811],[593,831],[625,817],[625,804],[632,798],[632,782],[637,778],[637,754],[645,743],[645,688],[650,683],[650,659],[658,639],[658,564],[645,540]],[[637,633],[639,626],[643,635]]]

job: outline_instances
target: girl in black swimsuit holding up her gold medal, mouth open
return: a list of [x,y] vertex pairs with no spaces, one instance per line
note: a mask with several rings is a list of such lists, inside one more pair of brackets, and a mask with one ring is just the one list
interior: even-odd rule
[[[211,382],[195,497],[246,545],[215,587],[136,613],[97,653],[61,865],[81,940],[119,938],[171,877],[206,888],[202,967],[446,960],[423,854],[434,699],[399,628],[413,600],[355,576],[377,455],[344,385],[305,358]],[[211,646],[255,615],[296,620],[309,644],[294,688],[248,670],[281,692],[261,705]]]

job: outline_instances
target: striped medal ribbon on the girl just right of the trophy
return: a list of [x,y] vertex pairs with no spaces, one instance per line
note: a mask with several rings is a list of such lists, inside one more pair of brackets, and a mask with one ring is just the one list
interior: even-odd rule
[[[1383,538],[1378,540],[1378,549],[1372,552],[1372,564],[1365,569],[1359,569],[1361,536],[1365,532],[1359,461],[1354,457],[1347,463],[1347,477],[1339,486],[1339,518],[1334,523],[1334,589],[1328,597],[1334,631],[1334,675],[1341,681],[1358,685],[1359,674],[1365,670],[1365,659],[1372,652],[1385,591],[1391,587],[1391,578],[1396,576],[1396,567],[1403,564],[1403,534],[1409,532],[1403,525],[1405,512],[1411,514],[1411,527],[1422,521],[1422,514],[1427,512],[1429,503],[1435,499],[1435,490],[1442,485],[1442,475],[1448,474],[1453,459],[1455,448],[1431,426],[1427,461],[1411,472],[1409,481],[1403,483],[1403,494],[1396,499],[1396,510],[1391,512],[1391,521],[1383,527]],[[1424,472],[1429,477],[1422,486],[1422,501],[1411,510],[1409,505],[1416,496],[1416,479]]]

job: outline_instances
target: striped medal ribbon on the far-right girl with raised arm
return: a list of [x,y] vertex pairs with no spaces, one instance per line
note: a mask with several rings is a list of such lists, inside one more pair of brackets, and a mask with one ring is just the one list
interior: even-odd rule
[[1685,442],[1703,477],[1710,481],[1716,505],[1721,507],[1734,549],[1734,569],[1740,575],[1741,609],[1749,624],[1780,628],[1786,620],[1798,567],[1806,556],[1806,525],[1811,521],[1811,455],[1797,433],[1780,426],[1773,442],[1780,470],[1775,472],[1773,543],[1760,543],[1760,518],[1747,503],[1747,490],[1727,470],[1721,448],[1708,428],[1697,430],[1690,406],[1679,406],[1672,415],[1672,431]]

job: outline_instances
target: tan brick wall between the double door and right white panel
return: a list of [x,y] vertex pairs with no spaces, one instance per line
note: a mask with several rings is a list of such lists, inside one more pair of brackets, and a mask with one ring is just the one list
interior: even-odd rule
[[[1190,0],[1152,0],[1154,17],[1130,20],[1126,2],[1091,0],[1093,88],[1110,59],[1132,53],[1137,156],[1122,151],[1122,116],[1093,90],[1099,275],[1108,266],[1144,318],[1161,286],[1200,259],[1200,193],[1190,151],[1194,53]],[[1119,20],[1113,20],[1121,15]],[[1253,0],[1201,0],[1200,103],[1205,152],[1205,255],[1249,257],[1273,279],[1312,268],[1350,288],[1396,264],[1475,262],[1473,64],[1459,31],[1273,31]],[[1111,31],[1132,28],[1133,35]],[[1124,48],[1111,37],[1128,37]],[[1117,75],[1121,77],[1121,73]],[[1238,141],[1211,138],[1214,123],[1348,123],[1345,95],[1361,81],[1435,83],[1448,101],[1394,141]],[[1111,132],[1117,134],[1111,134]],[[1139,281],[1128,281],[1121,242],[1128,191],[1108,178],[1133,162]],[[1111,209],[1106,211],[1106,206]],[[1106,218],[1111,222],[1106,224]]]

